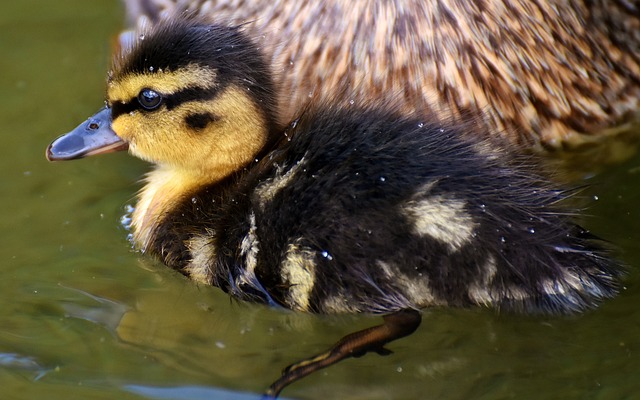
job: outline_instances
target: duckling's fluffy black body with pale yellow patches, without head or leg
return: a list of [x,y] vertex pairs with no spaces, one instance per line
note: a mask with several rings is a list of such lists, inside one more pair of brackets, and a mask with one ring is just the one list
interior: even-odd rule
[[236,297],[322,313],[566,312],[612,296],[618,266],[557,204],[564,193],[465,129],[477,126],[308,110],[246,175],[174,210],[187,229],[215,216],[182,234],[190,254],[174,267]]

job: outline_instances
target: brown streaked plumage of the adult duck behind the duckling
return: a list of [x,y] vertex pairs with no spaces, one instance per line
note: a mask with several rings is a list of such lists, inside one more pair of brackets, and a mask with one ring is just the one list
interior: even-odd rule
[[[346,94],[460,119],[579,178],[634,154],[640,6],[623,1],[125,0],[130,25],[188,8],[246,23],[278,67],[280,122]],[[123,38],[128,37],[124,35]],[[123,39],[126,41],[127,39]],[[348,87],[350,91],[344,91]],[[310,97],[312,99],[310,99]],[[348,100],[348,99],[346,99]],[[571,173],[575,171],[575,173]]]

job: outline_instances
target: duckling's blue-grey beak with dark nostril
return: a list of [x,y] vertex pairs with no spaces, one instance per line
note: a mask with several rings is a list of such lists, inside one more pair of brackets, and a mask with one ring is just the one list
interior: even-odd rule
[[64,161],[127,150],[129,145],[111,129],[111,109],[104,107],[47,147],[47,160]]

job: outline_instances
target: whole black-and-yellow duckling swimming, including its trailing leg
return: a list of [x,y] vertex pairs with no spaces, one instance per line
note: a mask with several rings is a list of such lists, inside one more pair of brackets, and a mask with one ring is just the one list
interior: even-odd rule
[[[582,311],[621,275],[533,160],[482,129],[401,108],[320,102],[282,126],[243,27],[183,17],[115,57],[106,107],[47,149],[128,149],[155,165],[132,216],[144,253],[231,296],[380,326],[288,368],[286,385],[412,333],[419,311]],[[380,104],[380,103],[376,103]]]

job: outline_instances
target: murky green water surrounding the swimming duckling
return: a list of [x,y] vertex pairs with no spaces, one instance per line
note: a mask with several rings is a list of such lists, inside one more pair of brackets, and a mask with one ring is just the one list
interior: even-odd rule
[[[102,104],[116,0],[0,6],[1,399],[257,398],[282,367],[377,323],[239,304],[132,252],[119,219],[146,170],[126,154],[50,164]],[[640,399],[640,158],[607,171],[585,225],[630,265],[585,315],[433,310],[391,356],[294,384],[303,399]]]

